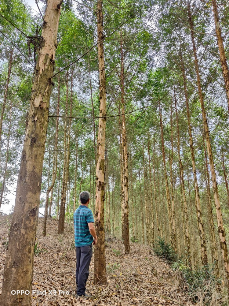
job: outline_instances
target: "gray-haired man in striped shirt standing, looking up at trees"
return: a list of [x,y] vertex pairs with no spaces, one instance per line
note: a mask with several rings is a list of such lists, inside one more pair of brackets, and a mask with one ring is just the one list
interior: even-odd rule
[[[78,297],[90,297],[85,293],[85,285],[89,275],[92,257],[92,244],[97,243],[97,235],[93,225],[93,213],[88,208],[90,193],[82,191],[79,195],[81,205],[74,212],[74,230],[76,247],[76,288]],[[94,239],[93,239],[94,238]]]

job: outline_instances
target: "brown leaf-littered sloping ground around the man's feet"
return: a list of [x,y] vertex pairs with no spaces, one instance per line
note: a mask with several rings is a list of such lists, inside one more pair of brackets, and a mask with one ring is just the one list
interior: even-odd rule
[[[10,216],[0,216],[0,293],[10,223]],[[126,255],[122,241],[112,237],[106,238],[107,285],[93,285],[92,257],[86,293],[93,298],[75,297],[73,226],[65,224],[65,233],[57,234],[57,220],[48,219],[47,236],[43,237],[42,225],[43,218],[39,218],[32,285],[36,292],[32,295],[32,306],[193,305],[187,301],[187,295],[179,292],[176,274],[170,265],[154,255],[150,247],[131,243],[131,254]],[[56,290],[56,295],[49,294],[49,290],[52,293]]]

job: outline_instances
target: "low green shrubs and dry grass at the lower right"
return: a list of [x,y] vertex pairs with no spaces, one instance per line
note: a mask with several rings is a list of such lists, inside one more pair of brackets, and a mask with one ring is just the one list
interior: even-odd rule
[[187,266],[182,259],[178,259],[171,245],[162,238],[158,239],[154,252],[170,262],[173,271],[176,272],[177,294],[185,293],[186,299],[198,306],[228,306],[224,277],[216,277],[213,264],[195,268]]

